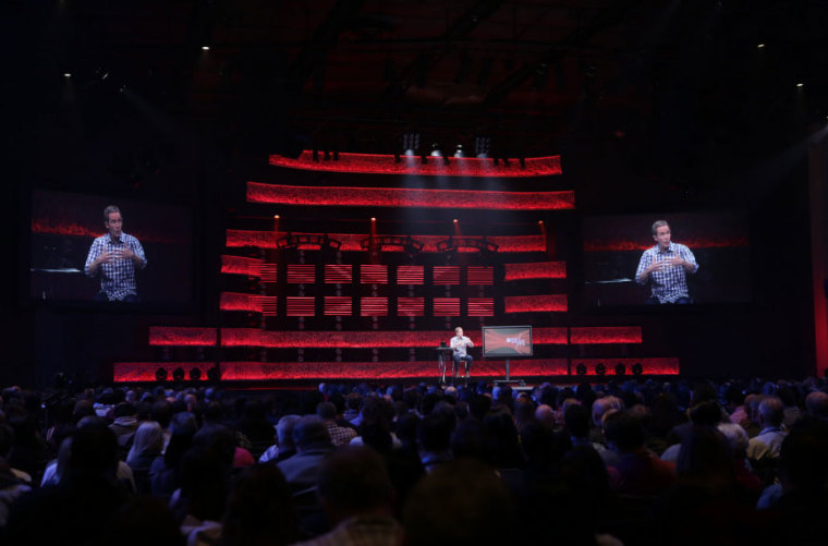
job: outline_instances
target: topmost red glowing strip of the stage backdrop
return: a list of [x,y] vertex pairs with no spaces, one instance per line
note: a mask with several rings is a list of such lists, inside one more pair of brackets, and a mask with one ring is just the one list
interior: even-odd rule
[[[426,165],[413,156],[395,157],[387,154],[338,154],[336,161],[314,161],[313,150],[304,150],[299,158],[272,154],[270,165],[307,171],[353,172],[361,174],[417,174],[421,177],[551,177],[561,173],[561,156],[527,157],[524,166],[510,161],[509,167],[495,165],[492,159],[450,158],[446,165],[441,157],[427,158]],[[318,156],[317,156],[318,157]]]

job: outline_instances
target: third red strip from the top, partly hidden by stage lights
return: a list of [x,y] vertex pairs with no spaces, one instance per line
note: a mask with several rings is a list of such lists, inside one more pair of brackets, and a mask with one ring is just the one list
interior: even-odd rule
[[[276,240],[284,236],[284,232],[273,231],[247,231],[247,230],[227,230],[227,246],[229,248],[240,248],[245,246],[255,246],[258,248],[276,248]],[[322,233],[299,233],[296,235],[322,235]],[[360,243],[368,236],[367,233],[329,233],[328,236],[342,243],[341,251],[345,252],[367,252]],[[412,235],[412,239],[424,244],[422,252],[438,253],[437,243],[446,241],[448,236],[441,235]],[[483,236],[475,238],[483,240]],[[516,235],[516,236],[487,236],[498,245],[498,253],[508,252],[546,252],[546,241],[544,235]],[[400,247],[385,248],[382,252],[404,252]],[[460,252],[465,252],[460,250]],[[546,278],[546,277],[541,277]],[[557,277],[556,277],[557,278]],[[562,278],[562,277],[561,277]]]

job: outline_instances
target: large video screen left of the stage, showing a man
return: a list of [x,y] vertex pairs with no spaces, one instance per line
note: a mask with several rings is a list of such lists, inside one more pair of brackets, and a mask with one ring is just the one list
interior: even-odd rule
[[[118,213],[105,219],[109,206]],[[29,252],[29,295],[37,300],[132,307],[193,300],[185,206],[37,190]]]

